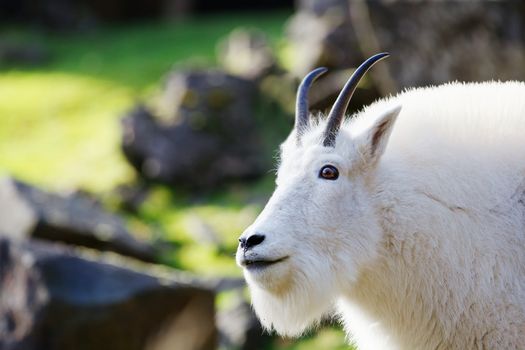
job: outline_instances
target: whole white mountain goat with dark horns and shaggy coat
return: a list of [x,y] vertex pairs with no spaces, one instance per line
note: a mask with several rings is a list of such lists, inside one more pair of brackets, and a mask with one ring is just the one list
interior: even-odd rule
[[344,120],[298,89],[276,189],[241,235],[254,309],[300,335],[337,314],[363,349],[525,349],[525,84],[407,90]]

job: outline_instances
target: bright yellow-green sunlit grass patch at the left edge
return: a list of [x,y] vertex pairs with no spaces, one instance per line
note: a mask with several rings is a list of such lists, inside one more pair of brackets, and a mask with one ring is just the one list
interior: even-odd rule
[[105,191],[133,171],[119,150],[128,88],[65,73],[0,75],[0,169],[51,188]]

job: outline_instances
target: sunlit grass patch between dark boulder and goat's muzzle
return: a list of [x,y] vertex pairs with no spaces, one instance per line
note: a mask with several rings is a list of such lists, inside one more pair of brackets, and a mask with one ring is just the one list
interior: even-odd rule
[[204,203],[188,203],[181,194],[158,186],[141,206],[139,217],[174,244],[162,255],[165,263],[204,276],[240,276],[234,259],[237,238],[262,209],[260,202],[246,202],[263,188],[268,192],[271,185],[268,179],[238,185],[242,188],[208,195]]

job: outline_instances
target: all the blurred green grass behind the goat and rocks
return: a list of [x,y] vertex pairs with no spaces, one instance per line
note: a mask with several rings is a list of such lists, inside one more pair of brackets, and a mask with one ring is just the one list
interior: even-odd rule
[[[288,13],[224,14],[177,23],[47,33],[3,28],[3,40],[49,50],[44,66],[0,63],[0,172],[52,190],[80,188],[117,208],[113,190],[136,181],[120,151],[119,118],[151,100],[173,65],[213,65],[219,39],[238,26],[264,30],[277,48]],[[206,194],[152,188],[134,214],[133,232],[170,244],[159,259],[203,275],[239,276],[238,234],[256,217],[273,175]],[[247,204],[248,203],[248,204]],[[327,328],[276,349],[345,348]]]

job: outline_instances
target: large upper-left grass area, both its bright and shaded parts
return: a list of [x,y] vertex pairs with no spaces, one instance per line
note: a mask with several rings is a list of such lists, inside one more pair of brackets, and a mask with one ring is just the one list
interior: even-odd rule
[[119,118],[134,101],[151,98],[173,65],[213,64],[217,41],[238,26],[276,43],[287,16],[216,15],[60,35],[2,28],[3,40],[36,42],[52,60],[0,73],[0,172],[53,189],[102,192],[129,182]]

